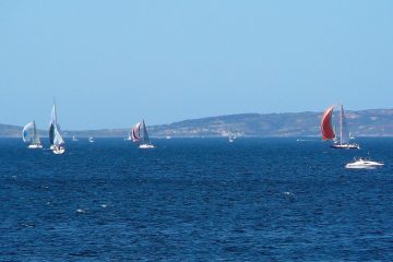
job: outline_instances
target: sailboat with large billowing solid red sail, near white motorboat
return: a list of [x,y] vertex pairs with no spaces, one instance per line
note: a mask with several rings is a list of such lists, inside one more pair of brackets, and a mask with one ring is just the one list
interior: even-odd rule
[[341,105],[340,111],[340,140],[336,141],[335,130],[332,128],[332,116],[334,106],[330,106],[322,115],[321,134],[322,140],[333,140],[333,148],[337,150],[359,150],[360,146],[355,143],[349,143],[349,132],[345,120],[344,107]]

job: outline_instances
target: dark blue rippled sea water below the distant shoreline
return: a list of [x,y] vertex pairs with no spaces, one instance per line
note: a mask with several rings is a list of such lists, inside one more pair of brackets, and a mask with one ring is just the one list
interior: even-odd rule
[[0,261],[393,261],[393,139],[154,142],[0,140]]

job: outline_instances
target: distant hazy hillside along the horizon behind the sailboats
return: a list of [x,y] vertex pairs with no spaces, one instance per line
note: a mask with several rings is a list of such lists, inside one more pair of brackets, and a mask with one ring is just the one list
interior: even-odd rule
[[[322,112],[241,114],[184,120],[147,127],[151,136],[223,136],[229,132],[246,136],[314,136],[319,134]],[[393,136],[393,109],[346,111],[347,123],[356,136]],[[338,115],[334,114],[337,121]],[[338,126],[338,123],[336,124]],[[0,124],[0,136],[20,136],[21,127]],[[124,138],[129,129],[67,131],[64,135],[83,138]],[[44,132],[43,134],[46,134]]]

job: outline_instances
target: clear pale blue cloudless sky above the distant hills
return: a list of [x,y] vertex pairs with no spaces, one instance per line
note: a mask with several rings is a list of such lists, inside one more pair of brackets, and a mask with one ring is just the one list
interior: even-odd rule
[[0,122],[392,108],[393,1],[0,1]]

